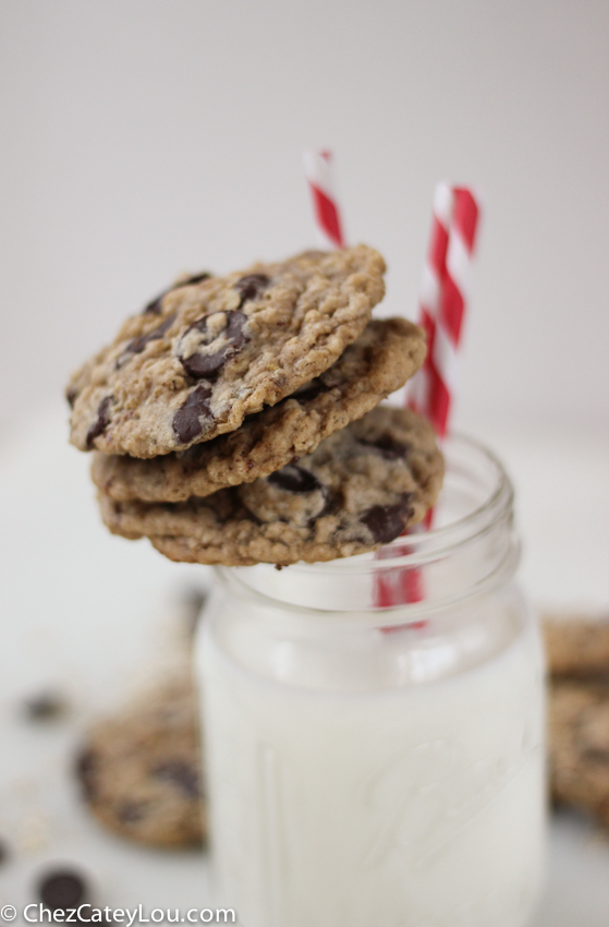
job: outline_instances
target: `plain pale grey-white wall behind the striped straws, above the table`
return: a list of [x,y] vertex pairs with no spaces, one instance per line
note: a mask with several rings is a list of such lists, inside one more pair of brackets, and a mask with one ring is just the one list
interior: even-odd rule
[[176,273],[314,241],[301,153],[416,317],[436,181],[485,202],[459,408],[609,409],[605,0],[3,0],[0,414]]

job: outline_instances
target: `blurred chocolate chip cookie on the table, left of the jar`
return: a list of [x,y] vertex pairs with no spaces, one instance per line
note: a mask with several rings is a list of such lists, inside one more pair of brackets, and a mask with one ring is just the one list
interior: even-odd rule
[[77,761],[85,800],[101,823],[150,846],[202,843],[196,697],[188,673],[94,730]]

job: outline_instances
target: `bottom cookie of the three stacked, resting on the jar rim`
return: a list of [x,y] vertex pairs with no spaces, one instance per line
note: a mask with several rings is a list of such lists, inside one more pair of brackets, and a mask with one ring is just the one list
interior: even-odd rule
[[99,502],[113,533],[148,537],[170,559],[287,565],[389,543],[434,505],[442,475],[429,425],[409,410],[378,406],[252,483],[175,504],[106,493]]

